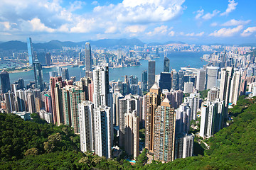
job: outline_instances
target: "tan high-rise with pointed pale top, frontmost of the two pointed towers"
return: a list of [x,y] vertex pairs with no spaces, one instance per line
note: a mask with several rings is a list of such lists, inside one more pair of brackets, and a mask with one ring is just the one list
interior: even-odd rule
[[157,107],[154,121],[154,159],[171,162],[174,160],[175,113],[168,98]]

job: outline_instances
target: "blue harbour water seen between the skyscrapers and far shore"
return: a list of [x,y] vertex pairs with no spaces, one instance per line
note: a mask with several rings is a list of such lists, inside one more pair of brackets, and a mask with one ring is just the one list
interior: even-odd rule
[[[193,68],[201,68],[203,65],[207,64],[205,61],[201,60],[201,57],[203,57],[204,54],[207,54],[207,52],[170,52],[167,55],[170,60],[170,70],[176,69],[178,71],[181,67],[188,66]],[[160,72],[163,72],[164,70],[164,54],[160,54],[160,57],[154,60],[156,61],[156,74],[160,74]],[[148,61],[141,60],[140,62],[140,66],[114,69],[110,68],[110,81],[117,81],[118,79],[124,81],[124,75],[134,75],[141,80],[142,72],[148,69]],[[83,71],[82,68],[71,66],[65,68],[68,68],[70,77],[76,77],[77,80],[79,80],[80,77],[85,77],[85,71]],[[57,71],[56,67],[43,68],[44,81],[49,82],[49,72],[52,71]],[[14,81],[17,81],[19,78],[23,78],[25,84],[28,84],[30,81],[34,81],[34,74],[32,70],[28,72],[11,73],[9,76],[11,84],[13,84]]]

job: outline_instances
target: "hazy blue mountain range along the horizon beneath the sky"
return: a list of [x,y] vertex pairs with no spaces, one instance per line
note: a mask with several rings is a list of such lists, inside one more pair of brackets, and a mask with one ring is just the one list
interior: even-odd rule
[[[85,45],[85,42],[90,42],[92,46],[96,47],[114,47],[114,46],[144,46],[146,43],[142,42],[141,40],[137,38],[133,39],[103,39],[103,40],[88,40],[88,41],[82,41],[82,42],[72,42],[72,41],[59,41],[59,40],[51,40],[49,42],[43,42],[43,43],[33,43],[34,49],[47,49],[47,50],[58,50],[61,49],[61,47],[76,47],[76,46],[82,46]],[[184,44],[185,42],[151,42],[148,45],[166,45],[170,43],[181,43]],[[27,50],[27,44],[26,42],[21,42],[17,40],[11,40],[8,42],[0,42],[0,50]]]

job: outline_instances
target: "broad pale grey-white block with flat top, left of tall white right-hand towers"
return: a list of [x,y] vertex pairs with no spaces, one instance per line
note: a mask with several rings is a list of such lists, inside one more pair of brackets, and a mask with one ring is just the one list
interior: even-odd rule
[[219,67],[207,67],[206,89],[212,89],[217,85]]

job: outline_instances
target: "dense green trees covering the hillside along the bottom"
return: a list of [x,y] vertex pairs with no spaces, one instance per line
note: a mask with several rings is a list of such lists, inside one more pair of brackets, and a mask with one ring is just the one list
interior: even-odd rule
[[134,166],[126,160],[82,154],[79,137],[71,128],[25,122],[0,113],[0,169],[256,169],[256,100],[244,97],[230,109],[230,126],[208,140],[210,149],[203,156],[167,164],[144,165],[146,150]]

